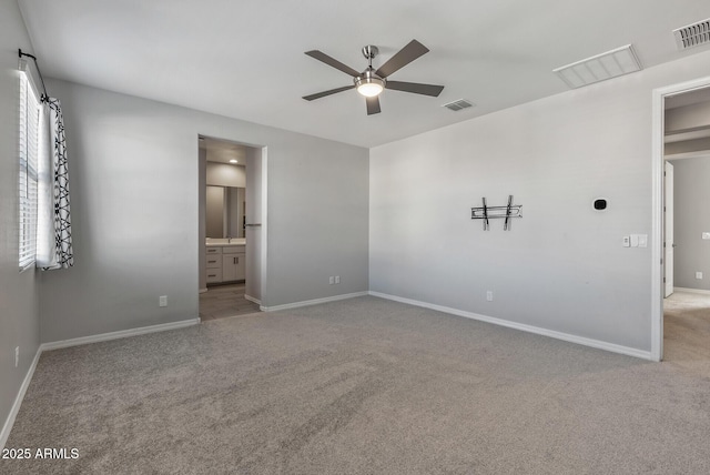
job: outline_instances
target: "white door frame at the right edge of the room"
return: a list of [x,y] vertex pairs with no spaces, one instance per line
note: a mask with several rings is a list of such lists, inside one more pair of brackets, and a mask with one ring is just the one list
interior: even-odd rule
[[651,358],[663,357],[663,133],[667,95],[710,87],[710,77],[655,89],[652,92],[651,146]]

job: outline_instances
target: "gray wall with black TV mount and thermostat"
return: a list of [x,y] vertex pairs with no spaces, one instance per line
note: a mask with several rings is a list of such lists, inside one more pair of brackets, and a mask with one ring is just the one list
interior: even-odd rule
[[[650,351],[651,92],[708,74],[703,52],[371,150],[371,290]],[[508,194],[511,231],[470,220]]]

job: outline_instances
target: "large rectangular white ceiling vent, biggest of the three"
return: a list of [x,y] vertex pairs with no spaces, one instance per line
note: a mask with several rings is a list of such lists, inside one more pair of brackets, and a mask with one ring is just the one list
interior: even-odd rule
[[640,70],[641,63],[636,57],[631,44],[627,44],[626,47],[554,69],[552,72],[565,81],[567,85],[577,89]]

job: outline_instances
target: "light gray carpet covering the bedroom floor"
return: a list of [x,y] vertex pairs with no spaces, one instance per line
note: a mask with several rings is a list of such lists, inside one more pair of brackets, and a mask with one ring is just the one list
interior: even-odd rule
[[708,376],[358,297],[48,352],[0,472],[707,474]]

